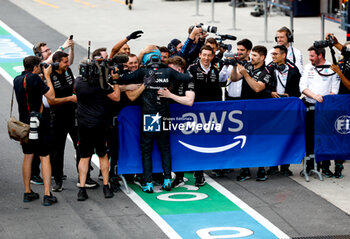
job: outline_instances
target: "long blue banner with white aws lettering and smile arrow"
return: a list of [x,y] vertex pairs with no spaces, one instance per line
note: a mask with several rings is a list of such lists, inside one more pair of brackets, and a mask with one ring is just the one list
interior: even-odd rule
[[[305,106],[298,98],[170,105],[170,117],[140,107],[119,116],[118,173],[142,173],[140,132],[170,130],[173,171],[299,164],[305,155]],[[153,147],[153,172],[162,172]]]

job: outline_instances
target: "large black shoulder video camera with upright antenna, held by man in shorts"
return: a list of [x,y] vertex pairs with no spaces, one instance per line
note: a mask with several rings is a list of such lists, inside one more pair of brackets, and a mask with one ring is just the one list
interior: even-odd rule
[[[129,57],[124,54],[116,55],[112,59],[92,59],[90,60],[90,41],[88,46],[88,59],[79,65],[79,74],[86,79],[89,84],[99,83],[102,89],[108,89],[111,83],[111,73],[121,74],[124,69],[123,63],[128,62]],[[118,68],[115,71],[115,68]]]

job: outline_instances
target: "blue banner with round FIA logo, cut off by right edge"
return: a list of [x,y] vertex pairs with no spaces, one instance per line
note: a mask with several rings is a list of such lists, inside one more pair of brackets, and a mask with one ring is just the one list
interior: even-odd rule
[[350,95],[325,96],[316,104],[315,158],[350,159]]

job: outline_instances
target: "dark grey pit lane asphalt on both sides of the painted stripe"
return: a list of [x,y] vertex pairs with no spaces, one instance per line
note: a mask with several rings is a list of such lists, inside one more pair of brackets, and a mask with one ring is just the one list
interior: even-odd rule
[[[0,20],[31,43],[40,40],[52,48],[66,39],[61,33],[2,0]],[[78,38],[78,36],[75,36]],[[121,38],[121,37],[120,37]],[[77,64],[86,50],[75,48]],[[0,76],[0,237],[1,238],[167,238],[166,235],[124,193],[104,199],[102,189],[89,191],[89,200],[77,202],[76,170],[73,147],[67,141],[65,153],[65,190],[55,193],[59,203],[43,207],[40,201],[23,203],[21,163],[23,154],[17,142],[6,132],[11,86]],[[16,112],[15,105],[14,111]],[[255,171],[252,172],[255,175]],[[291,237],[350,234],[350,216],[291,178],[274,176],[266,182],[236,182],[235,173],[215,180],[245,201]],[[98,170],[92,172],[97,179]],[[210,174],[209,174],[210,175]],[[348,180],[345,177],[343,180]],[[33,186],[42,197],[42,186]],[[195,218],[193,219],[195,220]]]

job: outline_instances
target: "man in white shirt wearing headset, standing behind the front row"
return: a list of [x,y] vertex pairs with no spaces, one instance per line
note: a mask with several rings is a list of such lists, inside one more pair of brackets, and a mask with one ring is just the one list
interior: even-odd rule
[[[287,27],[282,27],[277,30],[275,41],[277,42],[277,45],[285,46],[288,49],[287,52],[287,59],[294,63],[298,69],[300,74],[303,74],[303,56],[301,54],[301,51],[299,51],[297,48],[293,47],[291,43],[294,42],[294,36]],[[268,65],[270,62],[272,62],[272,55],[273,49],[271,49],[266,56],[265,63]]]

